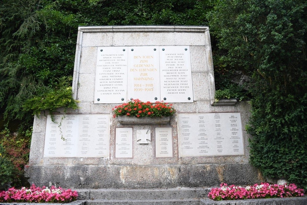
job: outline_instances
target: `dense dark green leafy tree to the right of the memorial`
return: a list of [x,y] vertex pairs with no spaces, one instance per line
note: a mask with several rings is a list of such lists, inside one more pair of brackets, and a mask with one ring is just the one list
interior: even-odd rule
[[208,15],[219,61],[253,77],[251,163],[307,187],[307,2],[221,0]]

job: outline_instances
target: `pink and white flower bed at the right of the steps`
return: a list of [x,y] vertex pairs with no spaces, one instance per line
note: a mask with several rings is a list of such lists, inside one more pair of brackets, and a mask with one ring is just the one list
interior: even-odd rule
[[208,198],[215,201],[235,200],[235,199],[263,199],[290,196],[303,196],[304,190],[297,188],[295,184],[269,184],[261,183],[247,187],[227,186],[221,183],[220,188],[212,188]]

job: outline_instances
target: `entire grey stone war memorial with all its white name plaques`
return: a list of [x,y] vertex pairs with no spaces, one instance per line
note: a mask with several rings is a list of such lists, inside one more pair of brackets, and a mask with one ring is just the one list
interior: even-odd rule
[[[248,102],[214,105],[206,26],[79,27],[73,97],[80,109],[35,117],[30,183],[65,188],[257,183]],[[171,117],[113,118],[130,99],[172,103]],[[218,105],[218,106],[217,106]],[[64,137],[65,141],[61,140]]]

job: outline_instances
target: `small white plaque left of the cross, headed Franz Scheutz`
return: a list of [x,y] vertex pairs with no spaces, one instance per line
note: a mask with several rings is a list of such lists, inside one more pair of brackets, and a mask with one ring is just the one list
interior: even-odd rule
[[132,158],[132,128],[115,128],[115,157]]

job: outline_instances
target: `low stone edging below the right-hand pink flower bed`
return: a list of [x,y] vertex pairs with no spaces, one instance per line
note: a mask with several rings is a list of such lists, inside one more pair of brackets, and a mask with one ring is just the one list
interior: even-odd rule
[[272,199],[243,199],[213,201],[211,199],[200,199],[201,205],[306,205],[307,197],[288,197]]

